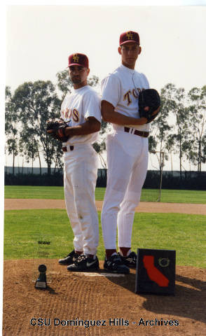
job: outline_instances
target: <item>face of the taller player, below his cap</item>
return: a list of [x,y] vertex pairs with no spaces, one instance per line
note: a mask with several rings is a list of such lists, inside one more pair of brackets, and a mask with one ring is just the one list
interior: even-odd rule
[[137,57],[141,52],[141,47],[135,42],[128,42],[118,48],[119,54],[122,56],[122,64],[130,69],[135,69]]

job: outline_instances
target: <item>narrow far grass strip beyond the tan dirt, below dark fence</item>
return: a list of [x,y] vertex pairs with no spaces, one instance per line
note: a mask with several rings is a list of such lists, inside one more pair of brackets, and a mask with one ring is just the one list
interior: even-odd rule
[[[96,200],[104,200],[105,188],[96,188]],[[156,202],[159,190],[143,189],[141,201]],[[5,198],[63,200],[63,187],[5,186]],[[206,191],[163,189],[160,202],[206,204]]]

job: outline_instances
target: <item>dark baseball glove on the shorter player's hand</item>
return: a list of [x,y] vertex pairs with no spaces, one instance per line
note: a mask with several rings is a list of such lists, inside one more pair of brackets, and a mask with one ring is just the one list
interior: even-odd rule
[[46,121],[46,131],[52,130],[53,132],[48,132],[50,137],[63,142],[66,142],[69,137],[65,134],[65,129],[69,127],[67,123],[62,118],[51,118]]

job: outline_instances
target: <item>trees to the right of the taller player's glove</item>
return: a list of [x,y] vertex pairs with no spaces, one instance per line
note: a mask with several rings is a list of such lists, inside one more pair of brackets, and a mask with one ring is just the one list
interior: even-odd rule
[[[180,174],[184,162],[198,172],[206,162],[206,85],[193,87],[188,93],[169,83],[161,90],[161,110],[151,123],[150,149],[164,153],[164,160],[179,155]],[[160,166],[164,165],[161,160]],[[160,167],[161,168],[161,167]]]

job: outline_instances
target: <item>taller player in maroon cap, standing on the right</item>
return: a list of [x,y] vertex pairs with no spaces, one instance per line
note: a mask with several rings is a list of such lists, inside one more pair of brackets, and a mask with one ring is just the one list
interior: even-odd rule
[[130,272],[129,267],[136,266],[137,255],[131,251],[132,224],[148,165],[149,123],[146,118],[139,118],[138,96],[149,88],[149,83],[143,73],[135,71],[141,50],[137,32],[121,34],[118,53],[122,64],[102,80],[102,118],[112,123],[114,129],[106,140],[108,176],[102,209],[104,269],[125,274]]

